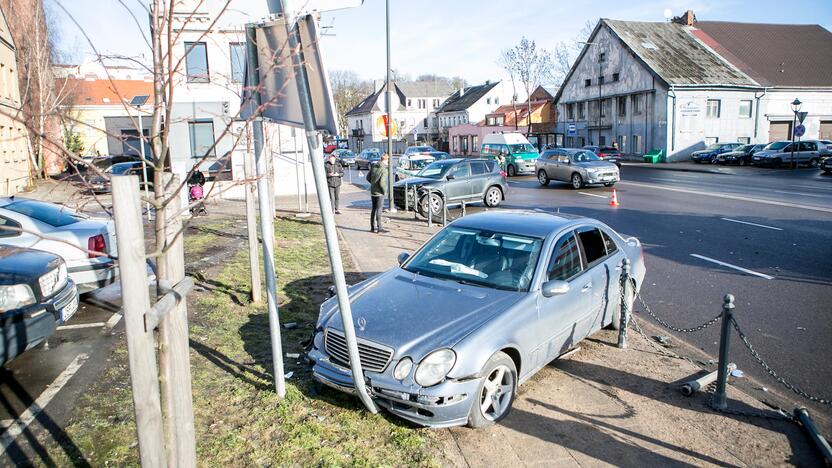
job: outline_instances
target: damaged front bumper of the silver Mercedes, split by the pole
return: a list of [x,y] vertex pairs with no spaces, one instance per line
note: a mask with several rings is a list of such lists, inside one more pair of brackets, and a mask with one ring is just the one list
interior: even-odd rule
[[[350,369],[333,363],[326,352],[316,347],[308,356],[314,362],[312,375],[315,380],[336,390],[357,394]],[[388,370],[395,368],[395,364],[395,361],[391,362]],[[403,419],[432,428],[465,425],[481,380],[449,379],[423,388],[385,373],[364,372],[364,379],[370,397],[379,406]]]

